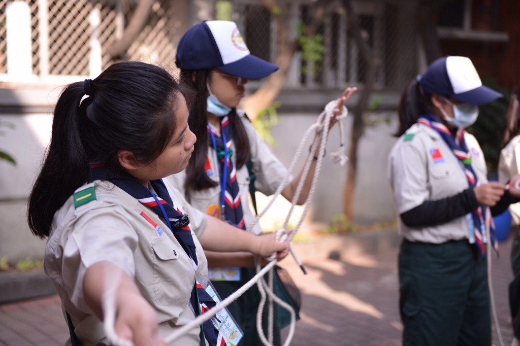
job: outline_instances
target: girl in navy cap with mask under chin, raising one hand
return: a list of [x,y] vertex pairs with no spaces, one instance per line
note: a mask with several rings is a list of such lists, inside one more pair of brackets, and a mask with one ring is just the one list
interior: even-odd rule
[[[190,129],[198,138],[193,156],[185,172],[171,180],[184,189],[194,207],[245,230],[255,221],[248,204],[250,174],[246,163],[251,160],[255,188],[266,195],[276,191],[287,169],[237,106],[244,97],[248,79],[266,77],[278,67],[251,55],[237,25],[230,21],[194,25],[179,42],[176,64],[181,70],[181,83],[196,89],[200,102],[191,109],[189,117]],[[355,90],[345,89],[338,99],[338,109]],[[282,191],[289,201],[300,177],[301,171]],[[309,174],[298,203],[305,202],[312,178]],[[262,233],[258,224],[252,233]],[[255,274],[251,255],[223,256],[207,251],[206,256],[210,267],[220,268],[215,269],[212,277],[222,298]],[[217,281],[219,278],[224,280]],[[258,289],[253,286],[228,307],[244,332],[241,345],[262,345],[256,331],[259,299]],[[279,344],[279,339],[279,326],[275,323],[274,343]]]

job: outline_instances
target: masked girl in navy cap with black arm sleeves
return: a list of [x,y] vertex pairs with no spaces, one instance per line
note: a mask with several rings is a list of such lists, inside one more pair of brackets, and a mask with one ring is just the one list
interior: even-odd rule
[[403,237],[404,345],[491,344],[492,215],[517,202],[520,190],[487,181],[482,150],[464,129],[475,122],[478,104],[499,97],[465,57],[434,61],[402,92],[388,176]]

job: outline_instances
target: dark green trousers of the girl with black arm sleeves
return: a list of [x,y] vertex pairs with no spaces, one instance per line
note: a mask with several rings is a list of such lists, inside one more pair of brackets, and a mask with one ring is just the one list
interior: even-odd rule
[[403,345],[491,345],[486,258],[476,245],[404,240],[398,266]]

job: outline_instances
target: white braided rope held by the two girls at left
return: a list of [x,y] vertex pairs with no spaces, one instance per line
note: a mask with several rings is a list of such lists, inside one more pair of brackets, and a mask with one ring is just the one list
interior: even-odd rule
[[[300,266],[300,268],[302,268],[302,270],[304,272],[305,272],[305,269],[303,267],[303,264],[300,261],[300,259],[298,259],[298,257],[296,256],[294,250],[291,247],[290,242],[296,235],[296,232],[298,231],[298,229],[300,229],[300,227],[305,219],[305,216],[307,215],[307,212],[310,208],[309,202],[311,201],[311,199],[314,195],[314,191],[316,189],[316,183],[317,183],[317,180],[319,177],[321,164],[323,161],[323,157],[325,155],[325,147],[327,144],[329,124],[330,124],[331,118],[334,116],[334,110],[336,108],[336,105],[337,105],[337,101],[335,101],[335,100],[329,102],[326,105],[324,111],[319,115],[318,121],[307,129],[307,131],[305,132],[305,135],[303,136],[303,138],[300,142],[300,145],[298,146],[298,148],[296,150],[293,161],[291,162],[291,164],[289,166],[287,175],[285,175],[285,177],[282,179],[282,182],[280,183],[278,189],[272,195],[271,201],[267,204],[267,206],[264,208],[264,210],[259,215],[257,215],[255,221],[252,224],[250,224],[249,227],[246,229],[246,231],[248,231],[248,232],[251,231],[251,229],[258,222],[258,220],[272,206],[276,197],[278,197],[278,195],[280,195],[280,193],[283,191],[283,189],[287,186],[287,184],[289,183],[289,178],[292,175],[292,171],[294,170],[294,167],[296,166],[296,163],[302,154],[303,147],[304,147],[308,137],[314,131],[316,134],[318,134],[318,141],[316,141],[316,143],[313,143],[313,145],[311,145],[309,157],[307,158],[307,161],[305,163],[304,170],[302,172],[302,177],[301,177],[300,181],[298,181],[298,185],[297,185],[295,194],[292,198],[291,208],[288,212],[287,218],[285,219],[283,229],[279,230],[276,235],[277,241],[284,242],[287,239],[287,241],[289,242],[289,251],[290,251],[292,257],[294,258],[296,263]],[[341,114],[336,116],[339,131],[340,131],[340,148],[336,152],[331,154],[331,159],[334,163],[340,163],[341,165],[343,165],[343,164],[345,164],[347,157],[344,154],[345,145],[343,142],[344,135],[343,135],[343,125],[341,123],[341,119],[343,119],[347,116],[348,111],[347,111],[346,107],[344,107],[344,106],[341,111],[342,111]],[[307,178],[307,175],[308,175],[308,172],[310,169],[310,165],[313,162],[313,158],[311,156],[312,156],[312,153],[316,152],[316,149],[318,148],[317,146],[319,146],[319,154],[318,154],[318,159],[317,159],[317,163],[316,163],[313,181],[311,183],[311,187],[309,189],[309,194],[308,194],[306,202],[305,202],[305,208],[304,208],[304,211],[302,213],[300,220],[296,224],[296,227],[294,228],[292,233],[288,236],[285,229],[287,229],[287,225],[289,224],[289,219],[292,215],[296,202],[297,202],[298,198],[300,198],[300,194],[303,190],[303,186],[304,186],[305,180]],[[259,304],[258,312],[257,312],[258,335],[266,346],[274,346],[274,345],[272,345],[272,334],[273,334],[272,333],[272,328],[273,328],[272,327],[272,325],[273,325],[272,317],[273,316],[272,316],[271,309],[270,309],[270,313],[269,313],[269,317],[268,317],[269,318],[269,320],[268,320],[268,322],[269,322],[269,330],[268,330],[269,340],[267,340],[267,338],[265,337],[263,327],[262,327],[262,314],[263,314],[263,310],[264,310],[266,296],[269,296],[270,304],[272,304],[273,301],[276,302],[278,305],[280,305],[280,307],[289,311],[289,313],[291,315],[289,334],[287,336],[287,339],[283,343],[283,346],[288,346],[294,336],[294,330],[295,330],[295,324],[296,324],[296,313],[294,312],[294,310],[290,304],[284,302],[283,300],[281,300],[279,297],[277,297],[274,294],[274,292],[272,290],[272,276],[271,276],[272,272],[270,273],[270,276],[269,276],[270,277],[269,285],[265,282],[263,276],[267,272],[271,271],[272,268],[275,266],[275,264],[278,262],[278,260],[276,260],[276,254],[272,254],[268,258],[268,260],[270,262],[263,269],[260,269],[261,268],[260,262],[257,261],[257,263],[256,263],[257,273],[255,276],[253,276],[251,278],[251,280],[249,280],[247,283],[245,283],[242,287],[240,287],[232,295],[230,295],[229,297],[224,299],[222,302],[217,304],[214,308],[197,316],[194,320],[192,320],[188,324],[180,327],[179,329],[174,330],[169,336],[164,338],[164,341],[166,343],[170,343],[170,342],[174,341],[175,339],[177,339],[178,337],[180,337],[181,335],[184,335],[186,332],[188,332],[188,331],[192,330],[193,328],[196,328],[196,327],[200,326],[201,324],[203,324],[204,322],[210,320],[213,316],[215,316],[217,314],[217,312],[226,308],[231,302],[235,301],[238,297],[243,295],[246,290],[248,290],[251,286],[253,286],[255,283],[257,283],[258,290],[261,294],[261,302]],[[103,324],[105,327],[105,334],[107,336],[108,341],[115,346],[133,346],[133,343],[131,341],[123,340],[123,339],[119,338],[118,335],[115,333],[115,329],[114,329],[115,287],[116,287],[116,285],[114,285],[113,290],[107,290],[106,294],[103,296],[103,310],[105,311],[105,316],[103,318],[103,320],[104,320]]]

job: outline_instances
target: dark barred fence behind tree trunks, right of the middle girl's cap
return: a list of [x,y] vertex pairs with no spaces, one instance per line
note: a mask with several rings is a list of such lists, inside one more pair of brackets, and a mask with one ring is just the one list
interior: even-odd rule
[[[257,1],[233,0],[233,19],[239,23],[252,54],[274,62],[276,59],[276,30],[274,18]],[[343,87],[361,85],[367,81],[368,61],[361,54],[358,44],[347,25],[346,10],[340,1],[324,3],[323,15],[315,18],[317,3],[320,1],[279,0],[278,4],[289,8],[287,18],[292,35],[298,35],[298,28],[307,28],[317,21],[313,32],[313,45],[321,45],[318,59],[306,59],[300,52],[297,73],[289,84],[295,87]],[[375,87],[397,88],[399,61],[397,35],[405,42],[413,42],[412,31],[398,31],[397,6],[395,2],[385,0],[354,1],[354,12],[361,37],[367,43],[373,58],[377,60]],[[301,31],[300,31],[301,32]],[[404,37],[407,36],[407,37]],[[415,63],[409,61],[408,63]]]

